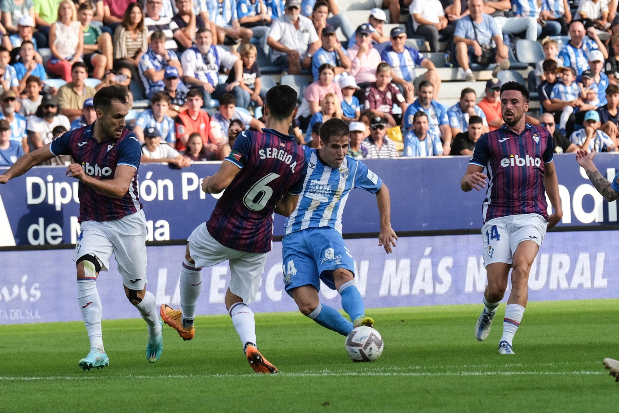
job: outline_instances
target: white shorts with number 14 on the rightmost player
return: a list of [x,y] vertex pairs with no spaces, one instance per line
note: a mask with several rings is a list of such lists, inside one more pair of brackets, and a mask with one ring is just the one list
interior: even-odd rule
[[542,246],[548,221],[539,214],[508,215],[491,219],[482,227],[483,265],[511,264],[522,241]]

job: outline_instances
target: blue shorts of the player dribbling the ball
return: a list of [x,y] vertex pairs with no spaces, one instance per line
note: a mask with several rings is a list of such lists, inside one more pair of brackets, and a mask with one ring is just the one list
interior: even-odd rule
[[303,285],[313,285],[320,291],[320,280],[335,290],[333,271],[344,268],[355,273],[342,235],[331,227],[308,228],[284,237],[284,285],[286,292]]

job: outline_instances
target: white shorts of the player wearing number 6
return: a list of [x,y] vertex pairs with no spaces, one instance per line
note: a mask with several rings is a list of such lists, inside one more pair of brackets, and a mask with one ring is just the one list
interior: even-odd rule
[[196,268],[211,267],[223,261],[230,262],[230,292],[248,304],[256,298],[260,277],[267,254],[246,253],[221,245],[211,237],[206,222],[189,235],[189,255]]

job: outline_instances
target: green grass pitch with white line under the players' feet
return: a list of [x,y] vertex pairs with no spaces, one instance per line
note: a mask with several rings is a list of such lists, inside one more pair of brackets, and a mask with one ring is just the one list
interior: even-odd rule
[[[184,342],[163,326],[164,350],[145,360],[141,319],[103,321],[110,367],[82,372],[82,323],[0,326],[0,412],[605,412],[619,383],[619,300],[529,303],[514,340],[496,351],[505,305],[485,342],[481,305],[368,310],[385,349],[352,363],[344,337],[299,313],[256,315],[259,347],[280,370],[256,375],[228,316],[196,318]],[[105,311],[105,309],[104,309]]]

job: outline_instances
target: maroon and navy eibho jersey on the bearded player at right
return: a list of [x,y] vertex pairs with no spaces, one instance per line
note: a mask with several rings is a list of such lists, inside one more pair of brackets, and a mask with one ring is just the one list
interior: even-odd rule
[[527,123],[517,135],[503,124],[483,134],[469,163],[488,172],[484,222],[518,214],[540,214],[548,219],[543,174],[545,163],[552,158],[552,136],[539,126]]

